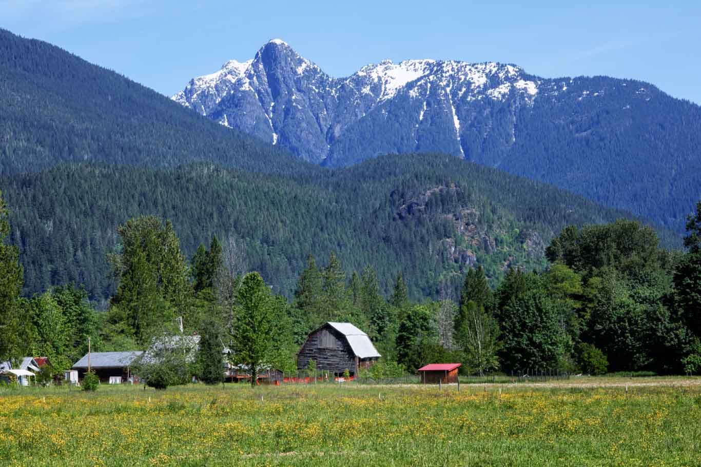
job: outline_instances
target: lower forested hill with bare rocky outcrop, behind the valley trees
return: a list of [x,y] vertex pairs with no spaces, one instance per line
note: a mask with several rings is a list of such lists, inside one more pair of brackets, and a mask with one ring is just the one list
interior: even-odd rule
[[132,216],[170,219],[187,256],[211,235],[224,244],[233,237],[248,269],[280,293],[291,293],[310,253],[323,263],[335,252],[347,270],[374,267],[384,291],[402,270],[414,298],[457,286],[477,264],[494,280],[512,265],[543,267],[547,242],[564,226],[631,217],[449,155],[319,171],[60,165],[6,176],[0,186],[25,293],[76,281],[98,300],[114,291],[106,253],[118,249],[116,227]]

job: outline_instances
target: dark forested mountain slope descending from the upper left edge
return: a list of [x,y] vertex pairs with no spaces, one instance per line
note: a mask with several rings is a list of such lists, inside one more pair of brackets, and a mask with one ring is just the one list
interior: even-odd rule
[[59,162],[312,169],[46,42],[0,29],[0,174]]

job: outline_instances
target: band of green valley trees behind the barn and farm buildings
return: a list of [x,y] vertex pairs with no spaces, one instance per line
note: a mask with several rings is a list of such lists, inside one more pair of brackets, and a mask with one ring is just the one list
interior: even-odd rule
[[[545,270],[511,268],[491,287],[477,267],[458,296],[445,287],[421,301],[409,298],[402,272],[386,297],[372,267],[348,275],[334,253],[322,265],[308,256],[288,300],[248,270],[240,244],[212,236],[186,258],[170,221],[141,216],[118,228],[121,248],[109,256],[118,286],[104,312],[76,285],[22,298],[7,212],[0,204],[0,359],[48,356],[62,370],[84,354],[88,336],[93,351],[145,349],[179,333],[182,319],[185,335],[200,335],[210,354],[218,349],[219,363],[226,346],[253,371],[293,371],[311,330],[349,321],[383,355],[374,375],[437,361],[477,373],[701,369],[701,202],[684,253],[658,248],[655,231],[636,221],[569,227],[547,247]],[[199,362],[192,371],[205,378]]]

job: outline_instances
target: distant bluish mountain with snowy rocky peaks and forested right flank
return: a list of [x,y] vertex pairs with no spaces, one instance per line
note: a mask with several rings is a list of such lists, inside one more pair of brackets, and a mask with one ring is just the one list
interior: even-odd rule
[[641,81],[451,60],[387,60],[332,78],[274,39],[173,99],[329,167],[449,153],[678,232],[701,196],[701,107]]

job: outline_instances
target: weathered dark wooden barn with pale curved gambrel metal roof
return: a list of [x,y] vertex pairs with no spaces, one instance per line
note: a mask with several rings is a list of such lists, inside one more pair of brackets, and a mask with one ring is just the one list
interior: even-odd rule
[[317,370],[336,376],[348,370],[354,376],[361,368],[374,365],[380,356],[367,334],[353,324],[326,323],[308,335],[297,352],[297,368],[306,370],[311,359]]

